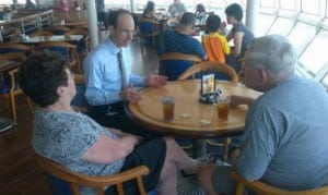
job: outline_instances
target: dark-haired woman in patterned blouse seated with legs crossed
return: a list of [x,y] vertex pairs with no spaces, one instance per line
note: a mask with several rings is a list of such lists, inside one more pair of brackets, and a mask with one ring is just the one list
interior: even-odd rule
[[[57,54],[32,54],[22,64],[19,83],[39,108],[35,112],[33,148],[72,171],[89,175],[108,175],[145,164],[148,191],[174,195],[176,172],[197,171],[198,161],[189,158],[171,137],[142,141],[139,136],[104,127],[77,112],[70,105],[75,95],[73,74]],[[107,191],[110,191],[108,188]],[[127,194],[137,194],[133,182],[126,183]],[[92,191],[83,187],[82,193]]]

